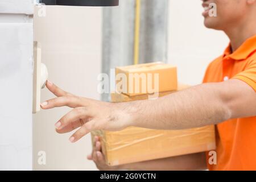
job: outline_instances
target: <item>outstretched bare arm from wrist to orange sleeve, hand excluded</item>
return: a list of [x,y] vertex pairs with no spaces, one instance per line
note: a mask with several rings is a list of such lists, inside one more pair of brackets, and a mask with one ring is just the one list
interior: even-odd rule
[[158,100],[127,103],[127,112],[133,115],[134,126],[188,129],[256,115],[256,94],[245,82],[233,79],[197,85]]

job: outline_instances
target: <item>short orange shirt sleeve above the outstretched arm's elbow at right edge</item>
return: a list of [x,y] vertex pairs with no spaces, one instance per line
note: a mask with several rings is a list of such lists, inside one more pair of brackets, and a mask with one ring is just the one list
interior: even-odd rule
[[250,61],[245,71],[238,73],[233,78],[246,82],[246,84],[250,85],[256,92],[256,59]]

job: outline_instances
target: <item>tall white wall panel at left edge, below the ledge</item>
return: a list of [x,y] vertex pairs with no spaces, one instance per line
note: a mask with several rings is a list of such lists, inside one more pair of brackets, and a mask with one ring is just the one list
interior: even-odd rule
[[33,25],[0,23],[0,40],[0,169],[32,169]]

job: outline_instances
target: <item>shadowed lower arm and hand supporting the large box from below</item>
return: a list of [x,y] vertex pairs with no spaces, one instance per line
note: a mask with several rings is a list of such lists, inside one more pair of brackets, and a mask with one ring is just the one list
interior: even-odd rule
[[103,171],[114,170],[139,170],[139,171],[171,171],[171,170],[204,170],[207,169],[205,152],[189,155],[181,155],[170,158],[148,160],[144,162],[123,164],[120,166],[108,166],[105,156],[101,151],[99,137],[94,137],[93,151],[87,158],[93,160],[97,168]]

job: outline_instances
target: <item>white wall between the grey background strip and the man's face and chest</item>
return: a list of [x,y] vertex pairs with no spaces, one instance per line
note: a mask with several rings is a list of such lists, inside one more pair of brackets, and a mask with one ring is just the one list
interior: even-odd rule
[[201,3],[170,0],[168,63],[177,65],[180,82],[191,85],[203,81],[207,65],[229,43],[223,32],[204,27]]

